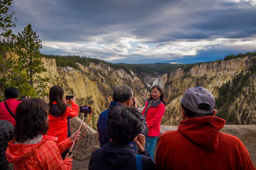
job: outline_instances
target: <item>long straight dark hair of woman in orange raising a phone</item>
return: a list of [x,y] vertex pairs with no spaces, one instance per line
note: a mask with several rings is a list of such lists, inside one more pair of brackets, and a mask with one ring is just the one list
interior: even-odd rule
[[64,95],[64,90],[61,86],[58,86],[58,85],[52,86],[49,92],[49,106],[50,106],[49,113],[51,113],[52,102],[57,102],[57,105],[62,114],[65,112],[65,110],[67,109],[67,105],[63,101],[63,98],[62,98],[63,95]]

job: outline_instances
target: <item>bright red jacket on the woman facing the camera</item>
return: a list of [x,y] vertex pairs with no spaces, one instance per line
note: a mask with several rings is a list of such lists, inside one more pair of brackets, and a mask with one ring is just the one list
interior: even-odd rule
[[[148,101],[145,103],[146,106],[142,111],[144,116],[145,110],[148,106]],[[164,115],[165,106],[164,103],[156,103],[150,106],[147,111],[147,116],[145,117],[148,125],[148,136],[156,137],[160,135],[161,120]]]

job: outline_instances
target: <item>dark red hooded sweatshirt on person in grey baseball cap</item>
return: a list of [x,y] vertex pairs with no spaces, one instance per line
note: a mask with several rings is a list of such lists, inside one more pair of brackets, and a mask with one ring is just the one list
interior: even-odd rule
[[219,132],[224,125],[213,116],[181,121],[178,130],[159,137],[157,169],[255,170],[242,141]]

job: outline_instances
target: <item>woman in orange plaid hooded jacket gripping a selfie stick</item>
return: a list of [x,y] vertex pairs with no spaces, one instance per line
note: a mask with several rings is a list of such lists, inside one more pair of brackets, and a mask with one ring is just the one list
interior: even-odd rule
[[21,102],[16,110],[15,138],[8,142],[6,159],[14,163],[14,169],[72,169],[72,154],[61,158],[80,137],[74,133],[70,138],[57,143],[57,137],[46,135],[48,131],[49,105],[39,98]]

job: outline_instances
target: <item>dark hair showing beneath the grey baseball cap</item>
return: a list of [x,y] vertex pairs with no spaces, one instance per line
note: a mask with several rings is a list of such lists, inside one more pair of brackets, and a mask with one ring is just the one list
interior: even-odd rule
[[[188,118],[213,116],[213,112],[212,113],[207,113],[207,114],[206,113],[196,113],[196,112],[193,112],[192,110],[188,109],[187,107],[185,107],[182,103],[181,103],[180,106],[185,110],[185,113],[186,113]],[[211,110],[211,106],[209,104],[206,104],[206,103],[200,103],[198,105],[197,109]]]

